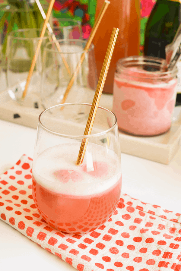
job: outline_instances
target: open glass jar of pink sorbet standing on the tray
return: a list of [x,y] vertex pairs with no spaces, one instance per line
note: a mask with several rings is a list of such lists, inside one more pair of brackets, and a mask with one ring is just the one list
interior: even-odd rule
[[177,69],[162,72],[164,61],[131,56],[117,62],[113,112],[120,130],[138,136],[154,136],[170,129]]

